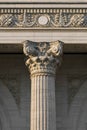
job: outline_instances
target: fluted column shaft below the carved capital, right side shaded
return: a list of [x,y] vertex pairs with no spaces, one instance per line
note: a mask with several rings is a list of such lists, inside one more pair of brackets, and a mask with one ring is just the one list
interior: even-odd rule
[[55,79],[48,75],[31,78],[31,129],[56,130]]

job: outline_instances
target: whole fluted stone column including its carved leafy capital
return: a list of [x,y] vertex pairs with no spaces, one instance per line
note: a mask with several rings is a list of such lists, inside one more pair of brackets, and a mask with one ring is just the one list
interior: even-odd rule
[[26,65],[31,74],[30,130],[56,130],[55,73],[63,44],[24,42]]

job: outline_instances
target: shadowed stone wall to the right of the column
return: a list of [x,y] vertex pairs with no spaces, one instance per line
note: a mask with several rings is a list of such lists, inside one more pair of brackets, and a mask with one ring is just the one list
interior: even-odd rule
[[57,71],[57,130],[87,129],[87,55],[64,55]]

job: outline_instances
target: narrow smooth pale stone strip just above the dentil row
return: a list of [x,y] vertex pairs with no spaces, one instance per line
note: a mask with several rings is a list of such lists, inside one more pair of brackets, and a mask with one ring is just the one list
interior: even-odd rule
[[48,4],[35,4],[35,3],[31,3],[31,4],[28,4],[27,2],[25,4],[22,4],[21,2],[19,2],[19,4],[13,4],[12,2],[10,2],[10,4],[6,4],[6,2],[4,2],[3,4],[0,4],[0,7],[1,8],[86,8],[87,7],[87,3],[84,2],[84,4],[80,4],[79,2],[78,3],[74,3],[74,4],[68,4],[68,3],[61,3],[61,4],[58,4],[58,3],[52,3],[49,2]]

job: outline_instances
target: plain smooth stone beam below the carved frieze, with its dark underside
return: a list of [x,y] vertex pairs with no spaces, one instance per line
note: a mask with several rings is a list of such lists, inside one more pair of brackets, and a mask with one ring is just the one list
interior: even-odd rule
[[23,53],[25,40],[64,42],[64,53],[87,53],[86,29],[3,29],[0,30],[0,53]]

